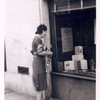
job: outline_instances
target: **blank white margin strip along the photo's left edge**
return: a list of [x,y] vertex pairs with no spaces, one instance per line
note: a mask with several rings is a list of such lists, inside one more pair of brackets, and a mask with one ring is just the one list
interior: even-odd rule
[[4,100],[4,0],[0,0],[0,99]]

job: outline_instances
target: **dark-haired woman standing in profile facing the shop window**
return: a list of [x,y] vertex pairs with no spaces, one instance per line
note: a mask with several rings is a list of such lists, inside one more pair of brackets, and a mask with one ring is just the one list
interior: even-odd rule
[[37,27],[36,36],[32,42],[32,53],[34,60],[33,68],[33,83],[37,91],[37,100],[43,100],[43,91],[47,89],[45,56],[51,56],[53,53],[46,51],[45,45],[41,38],[44,38],[47,32],[47,27],[43,24]]

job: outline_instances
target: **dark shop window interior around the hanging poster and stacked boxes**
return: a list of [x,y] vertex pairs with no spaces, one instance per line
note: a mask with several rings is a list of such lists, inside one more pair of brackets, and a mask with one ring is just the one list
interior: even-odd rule
[[[56,13],[56,40],[58,50],[58,62],[72,60],[75,46],[83,46],[84,58],[88,61],[94,59],[96,63],[96,46],[94,43],[94,20],[96,19],[96,9],[84,9]],[[72,28],[73,50],[62,52],[61,28]]]

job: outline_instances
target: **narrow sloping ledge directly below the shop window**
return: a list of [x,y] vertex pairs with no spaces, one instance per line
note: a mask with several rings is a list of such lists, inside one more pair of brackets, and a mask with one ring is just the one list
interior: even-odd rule
[[64,76],[64,77],[84,79],[84,80],[89,80],[89,81],[96,81],[95,77],[67,74],[67,73],[62,73],[62,72],[51,72],[51,75],[58,75],[58,76]]

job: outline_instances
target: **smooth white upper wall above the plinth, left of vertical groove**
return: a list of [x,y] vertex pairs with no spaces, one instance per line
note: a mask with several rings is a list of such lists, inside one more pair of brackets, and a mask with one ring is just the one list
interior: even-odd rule
[[40,24],[38,3],[38,0],[6,0],[8,72],[17,73],[17,66],[30,67],[31,70],[32,55],[29,50],[36,27]]

